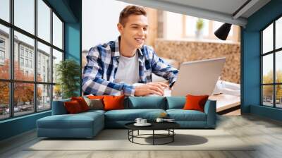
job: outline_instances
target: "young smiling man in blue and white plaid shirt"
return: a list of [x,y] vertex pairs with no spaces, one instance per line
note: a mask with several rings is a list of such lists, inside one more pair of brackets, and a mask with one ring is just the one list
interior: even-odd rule
[[[116,41],[88,52],[82,76],[84,95],[164,95],[164,88],[176,81],[178,70],[145,45],[148,22],[144,8],[126,6],[117,26],[121,36]],[[152,82],[152,73],[168,82]]]

